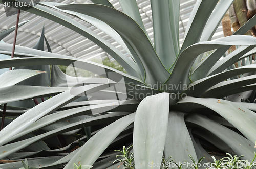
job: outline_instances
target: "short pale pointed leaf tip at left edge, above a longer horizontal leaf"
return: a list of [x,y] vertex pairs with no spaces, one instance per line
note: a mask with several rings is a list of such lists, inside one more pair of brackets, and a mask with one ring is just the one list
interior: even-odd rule
[[45,71],[38,70],[12,70],[7,71],[4,74],[0,75],[0,86],[7,87],[13,86],[19,82],[22,82],[25,79],[33,77],[35,75],[39,75],[42,73],[46,73]]

